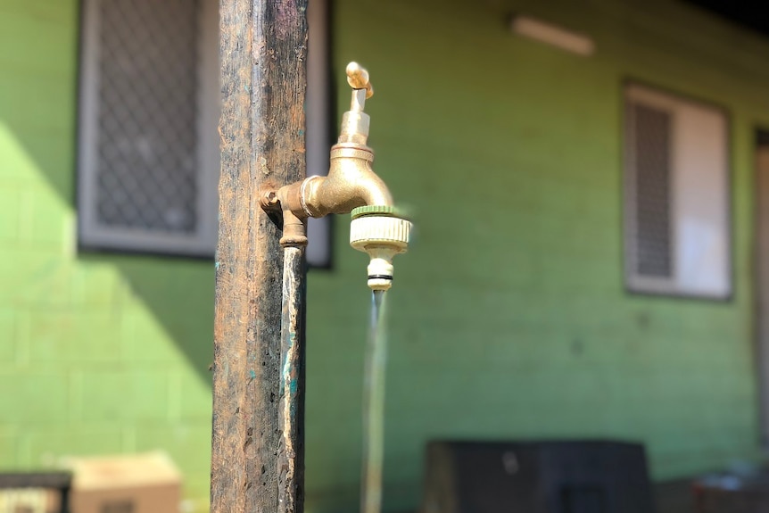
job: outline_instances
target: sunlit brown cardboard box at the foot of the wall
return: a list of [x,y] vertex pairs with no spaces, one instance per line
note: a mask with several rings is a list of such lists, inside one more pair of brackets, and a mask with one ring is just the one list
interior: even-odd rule
[[181,474],[162,452],[68,462],[72,513],[178,513]]

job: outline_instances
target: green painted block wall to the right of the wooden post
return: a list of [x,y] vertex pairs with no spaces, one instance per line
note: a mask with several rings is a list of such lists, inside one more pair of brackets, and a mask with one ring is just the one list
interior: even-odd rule
[[[767,42],[669,2],[341,1],[335,67],[371,71],[374,168],[417,211],[391,297],[384,502],[418,502],[426,440],[622,437],[657,479],[757,454],[753,130]],[[515,37],[510,12],[589,34],[581,58]],[[639,79],[731,117],[735,295],[628,294],[622,86]],[[347,95],[340,92],[338,104]],[[308,497],[354,510],[365,257],[310,277]]]

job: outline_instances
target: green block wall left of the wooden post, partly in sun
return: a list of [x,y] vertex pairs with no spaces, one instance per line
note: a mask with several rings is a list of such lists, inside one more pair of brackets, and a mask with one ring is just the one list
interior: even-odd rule
[[77,252],[78,4],[0,0],[0,467],[164,449],[203,510],[213,266]]

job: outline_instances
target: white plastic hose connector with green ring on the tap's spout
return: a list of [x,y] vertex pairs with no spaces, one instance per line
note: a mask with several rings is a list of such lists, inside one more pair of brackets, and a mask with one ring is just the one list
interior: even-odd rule
[[388,290],[393,286],[393,257],[406,252],[411,223],[395,217],[393,207],[365,206],[352,211],[350,245],[367,252],[368,287]]

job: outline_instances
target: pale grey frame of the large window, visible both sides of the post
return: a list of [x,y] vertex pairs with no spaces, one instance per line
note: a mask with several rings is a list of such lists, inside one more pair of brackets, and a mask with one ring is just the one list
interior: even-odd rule
[[[212,259],[219,231],[219,3],[199,0],[198,90],[196,108],[197,223],[193,234],[153,232],[112,227],[98,219],[99,137],[99,5],[103,0],[82,0],[80,14],[77,140],[78,248],[80,251],[142,253],[170,257]],[[216,22],[214,22],[216,21]],[[313,0],[308,9],[309,54],[307,91],[307,172],[328,172],[328,151],[333,143],[334,95],[330,66],[330,12],[328,0]],[[213,39],[213,40],[212,40]],[[311,267],[330,269],[333,227],[328,217],[310,219],[307,257]]]

